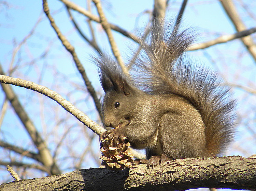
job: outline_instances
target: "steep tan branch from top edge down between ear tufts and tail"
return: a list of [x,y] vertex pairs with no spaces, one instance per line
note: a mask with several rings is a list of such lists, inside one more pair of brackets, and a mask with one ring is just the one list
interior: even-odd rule
[[125,74],[128,74],[128,70],[127,70],[127,68],[124,64],[124,61],[121,57],[119,49],[117,48],[116,42],[115,42],[114,37],[112,35],[110,25],[109,25],[104,13],[103,13],[101,2],[100,2],[100,0],[93,0],[93,2],[95,4],[95,6],[97,8],[97,11],[98,11],[98,14],[100,16],[100,23],[101,23],[103,29],[105,30],[106,35],[108,36],[109,43],[110,43],[110,46],[111,46],[111,50],[112,50],[114,56],[116,57],[116,60],[117,60],[118,64],[122,68],[123,72]]

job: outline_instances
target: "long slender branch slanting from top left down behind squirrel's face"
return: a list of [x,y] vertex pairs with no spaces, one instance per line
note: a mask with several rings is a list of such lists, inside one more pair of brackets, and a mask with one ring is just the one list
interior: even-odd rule
[[74,60],[75,65],[76,65],[76,68],[80,72],[80,74],[82,75],[82,78],[84,80],[85,86],[86,86],[88,92],[90,93],[91,97],[94,100],[95,107],[97,108],[97,111],[98,111],[101,119],[103,119],[103,116],[101,114],[101,105],[100,105],[100,101],[99,101],[99,99],[97,97],[96,91],[95,91],[94,87],[91,85],[91,82],[89,81],[89,79],[87,77],[85,69],[84,69],[83,65],[81,64],[79,58],[76,55],[74,47],[70,44],[70,42],[67,40],[67,38],[64,35],[62,35],[62,33],[60,32],[59,28],[55,24],[55,21],[54,21],[53,17],[50,14],[48,3],[47,3],[46,0],[43,0],[43,8],[44,8],[44,12],[45,12],[47,18],[49,19],[49,21],[50,21],[54,31],[56,32],[58,38],[61,41],[62,45],[72,55],[73,60]]

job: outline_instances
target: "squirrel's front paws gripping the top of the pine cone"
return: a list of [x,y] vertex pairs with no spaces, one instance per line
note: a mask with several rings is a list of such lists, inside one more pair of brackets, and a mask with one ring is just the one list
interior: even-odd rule
[[107,144],[112,143],[113,146],[117,146],[118,141],[125,141],[125,136],[122,132],[119,131],[119,129],[111,129],[100,135],[100,141],[102,141],[103,139],[108,139]]

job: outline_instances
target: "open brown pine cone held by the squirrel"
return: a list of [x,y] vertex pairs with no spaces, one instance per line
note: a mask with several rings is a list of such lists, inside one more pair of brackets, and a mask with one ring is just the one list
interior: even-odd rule
[[116,147],[114,147],[113,140],[110,141],[110,144],[107,144],[109,140],[108,137],[101,140],[101,165],[111,170],[122,170],[131,167],[133,162],[133,154],[130,153],[131,145],[126,141],[126,137],[124,137],[124,139],[124,142],[118,139]]

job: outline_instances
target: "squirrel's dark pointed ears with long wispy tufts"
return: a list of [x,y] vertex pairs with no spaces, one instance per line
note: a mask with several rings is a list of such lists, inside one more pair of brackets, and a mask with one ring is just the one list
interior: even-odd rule
[[94,57],[96,65],[99,67],[100,82],[103,90],[107,92],[114,89],[117,92],[131,95],[133,90],[132,83],[123,73],[120,66],[110,57]]

